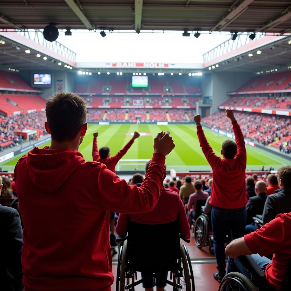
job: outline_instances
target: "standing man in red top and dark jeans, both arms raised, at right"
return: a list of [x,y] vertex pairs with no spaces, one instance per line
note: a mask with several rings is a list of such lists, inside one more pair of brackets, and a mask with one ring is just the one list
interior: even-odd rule
[[221,157],[214,154],[200,125],[200,115],[194,116],[200,147],[213,171],[210,204],[214,239],[214,251],[218,272],[213,276],[221,281],[225,275],[224,244],[226,235],[232,239],[242,237],[246,227],[246,148],[244,136],[235,120],[232,110],[226,110],[226,116],[233,125],[235,142],[222,143]]

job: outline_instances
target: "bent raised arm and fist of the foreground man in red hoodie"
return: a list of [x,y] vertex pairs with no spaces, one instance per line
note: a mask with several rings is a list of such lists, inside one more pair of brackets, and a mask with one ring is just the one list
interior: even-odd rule
[[166,178],[165,156],[174,147],[169,132],[166,134],[160,132],[156,136],[152,162],[140,187],[129,186],[125,180],[121,180],[105,166],[99,165],[102,168],[97,179],[97,197],[100,206],[114,212],[129,214],[151,211],[159,199]]

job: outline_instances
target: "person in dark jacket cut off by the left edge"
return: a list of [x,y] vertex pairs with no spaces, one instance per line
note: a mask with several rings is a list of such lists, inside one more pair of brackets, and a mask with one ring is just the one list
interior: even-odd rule
[[[3,188],[0,176],[0,196]],[[20,217],[16,209],[0,204],[0,290],[21,291],[22,281],[22,227]]]

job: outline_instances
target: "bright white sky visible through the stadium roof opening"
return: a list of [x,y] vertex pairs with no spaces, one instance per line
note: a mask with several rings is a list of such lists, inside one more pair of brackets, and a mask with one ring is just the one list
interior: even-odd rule
[[77,62],[203,63],[202,55],[230,38],[229,34],[60,33],[58,42],[77,53]]

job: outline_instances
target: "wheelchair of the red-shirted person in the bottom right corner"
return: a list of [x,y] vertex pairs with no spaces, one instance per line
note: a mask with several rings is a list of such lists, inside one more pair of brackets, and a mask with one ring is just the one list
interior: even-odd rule
[[[251,273],[251,279],[238,272],[228,273],[223,277],[219,285],[218,291],[276,291],[273,286],[267,281],[265,272],[262,271],[262,269],[257,265],[255,260],[250,255],[239,256],[238,260]],[[290,275],[291,262],[289,263],[281,291],[290,290]],[[254,284],[254,281],[256,285]],[[259,289],[256,286],[260,286]]]

